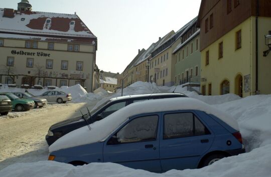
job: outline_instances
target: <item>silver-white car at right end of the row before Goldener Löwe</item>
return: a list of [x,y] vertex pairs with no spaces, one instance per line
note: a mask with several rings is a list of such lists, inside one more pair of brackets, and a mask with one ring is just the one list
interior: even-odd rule
[[65,103],[72,100],[71,93],[64,93],[63,91],[46,91],[39,97],[44,97],[48,102]]

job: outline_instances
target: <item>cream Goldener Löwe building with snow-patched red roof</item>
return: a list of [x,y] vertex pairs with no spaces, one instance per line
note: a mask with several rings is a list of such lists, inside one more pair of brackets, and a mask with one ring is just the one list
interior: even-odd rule
[[18,3],[21,10],[0,8],[0,82],[81,84],[92,92],[96,36],[76,14],[34,12],[24,8],[28,3]]

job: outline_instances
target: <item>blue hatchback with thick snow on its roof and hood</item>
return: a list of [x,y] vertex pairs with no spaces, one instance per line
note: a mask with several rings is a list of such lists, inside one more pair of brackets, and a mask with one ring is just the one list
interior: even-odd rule
[[164,172],[199,168],[245,152],[237,122],[193,98],[132,103],[76,129],[49,147],[49,160],[115,162]]

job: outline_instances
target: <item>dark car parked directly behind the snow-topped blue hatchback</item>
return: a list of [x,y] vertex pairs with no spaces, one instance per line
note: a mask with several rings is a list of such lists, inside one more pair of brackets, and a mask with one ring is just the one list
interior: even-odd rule
[[61,136],[67,134],[70,131],[78,129],[86,124],[91,124],[97,120],[101,120],[118,109],[125,107],[133,102],[149,100],[149,99],[161,99],[171,97],[187,97],[183,93],[153,93],[153,94],[138,94],[128,95],[111,98],[97,107],[94,107],[88,114],[70,118],[56,124],[53,124],[46,135],[46,141],[48,145],[51,145]]

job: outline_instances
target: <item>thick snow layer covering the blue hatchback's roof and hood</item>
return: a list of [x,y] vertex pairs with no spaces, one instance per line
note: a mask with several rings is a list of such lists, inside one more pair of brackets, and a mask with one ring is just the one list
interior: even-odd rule
[[84,126],[67,133],[55,141],[49,147],[49,151],[104,141],[117,127],[133,115],[170,110],[202,110],[217,116],[232,128],[239,130],[237,121],[229,114],[198,99],[188,97],[164,98],[159,100],[159,104],[157,104],[157,99],[153,99],[129,104],[102,120],[90,124],[90,130],[87,126]]

